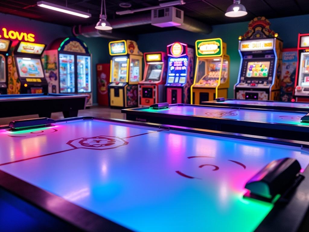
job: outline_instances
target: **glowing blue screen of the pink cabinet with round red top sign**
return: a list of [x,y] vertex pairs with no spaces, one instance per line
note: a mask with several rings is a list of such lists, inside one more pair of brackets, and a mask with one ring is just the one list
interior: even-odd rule
[[168,59],[168,83],[185,84],[188,72],[188,57]]

